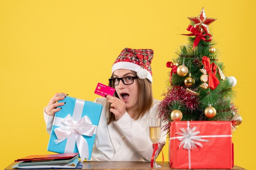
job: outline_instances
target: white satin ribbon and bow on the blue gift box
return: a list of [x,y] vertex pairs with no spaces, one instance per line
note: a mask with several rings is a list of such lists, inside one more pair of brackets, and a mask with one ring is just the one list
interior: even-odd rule
[[92,136],[97,131],[97,126],[92,124],[88,116],[81,118],[84,102],[85,100],[76,99],[73,116],[68,114],[65,118],[55,117],[53,123],[60,126],[54,129],[58,138],[54,142],[59,143],[67,139],[64,153],[73,153],[76,144],[82,162],[89,157],[88,143],[83,135]]

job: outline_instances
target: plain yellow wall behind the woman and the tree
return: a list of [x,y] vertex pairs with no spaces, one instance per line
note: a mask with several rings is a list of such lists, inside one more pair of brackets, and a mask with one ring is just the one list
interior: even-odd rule
[[[43,108],[56,92],[94,101],[122,49],[151,48],[154,97],[166,89],[167,61],[187,44],[187,17],[204,7],[213,40],[235,76],[234,100],[243,123],[233,134],[235,164],[255,164],[255,7],[253,0],[1,0],[0,169],[27,155],[46,154]],[[213,153],[214,154],[214,153]],[[164,148],[165,161],[168,149]],[[159,159],[160,160],[160,159]]]

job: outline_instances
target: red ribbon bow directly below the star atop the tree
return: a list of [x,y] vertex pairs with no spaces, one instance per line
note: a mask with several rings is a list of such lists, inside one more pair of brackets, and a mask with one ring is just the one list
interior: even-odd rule
[[[195,29],[192,25],[189,25],[188,28],[186,28],[187,31],[190,31],[191,34],[182,34],[182,35],[188,35],[188,36],[195,36],[194,44],[193,44],[193,50],[195,50],[195,47],[198,45],[199,41],[202,39],[205,42],[210,42],[212,37],[211,34],[203,34],[202,32],[200,33],[197,29]],[[209,39],[206,39],[206,36],[209,36]]]

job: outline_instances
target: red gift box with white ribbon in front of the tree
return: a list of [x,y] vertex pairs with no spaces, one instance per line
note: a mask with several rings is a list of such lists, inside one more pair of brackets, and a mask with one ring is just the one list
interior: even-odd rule
[[231,169],[231,125],[225,121],[170,122],[171,168]]

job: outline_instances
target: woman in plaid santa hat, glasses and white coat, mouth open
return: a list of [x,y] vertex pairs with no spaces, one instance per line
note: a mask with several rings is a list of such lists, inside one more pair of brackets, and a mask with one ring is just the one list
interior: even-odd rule
[[[153,99],[151,61],[153,50],[125,48],[112,65],[109,86],[114,96],[97,98],[103,105],[91,160],[151,161],[153,147],[149,138],[147,118],[157,118],[159,100]],[[44,109],[47,132],[50,134],[58,106],[65,105],[65,93],[57,93]],[[159,139],[160,153],[166,132]]]

